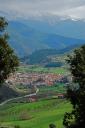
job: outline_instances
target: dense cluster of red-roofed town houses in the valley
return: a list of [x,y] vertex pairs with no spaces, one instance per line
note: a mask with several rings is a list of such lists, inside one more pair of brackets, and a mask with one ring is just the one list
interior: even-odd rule
[[11,74],[7,80],[10,84],[23,85],[48,85],[52,86],[58,81],[61,81],[62,75],[52,73],[15,73]]

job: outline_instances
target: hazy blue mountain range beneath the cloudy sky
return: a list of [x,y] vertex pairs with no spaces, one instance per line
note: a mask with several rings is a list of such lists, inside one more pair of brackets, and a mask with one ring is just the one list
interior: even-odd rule
[[40,49],[61,50],[85,43],[85,22],[82,20],[10,20],[9,43],[19,57]]

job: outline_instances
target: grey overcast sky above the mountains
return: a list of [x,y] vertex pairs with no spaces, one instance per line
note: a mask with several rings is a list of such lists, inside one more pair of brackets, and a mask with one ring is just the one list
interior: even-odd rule
[[85,0],[0,0],[0,12],[16,17],[85,18]]

